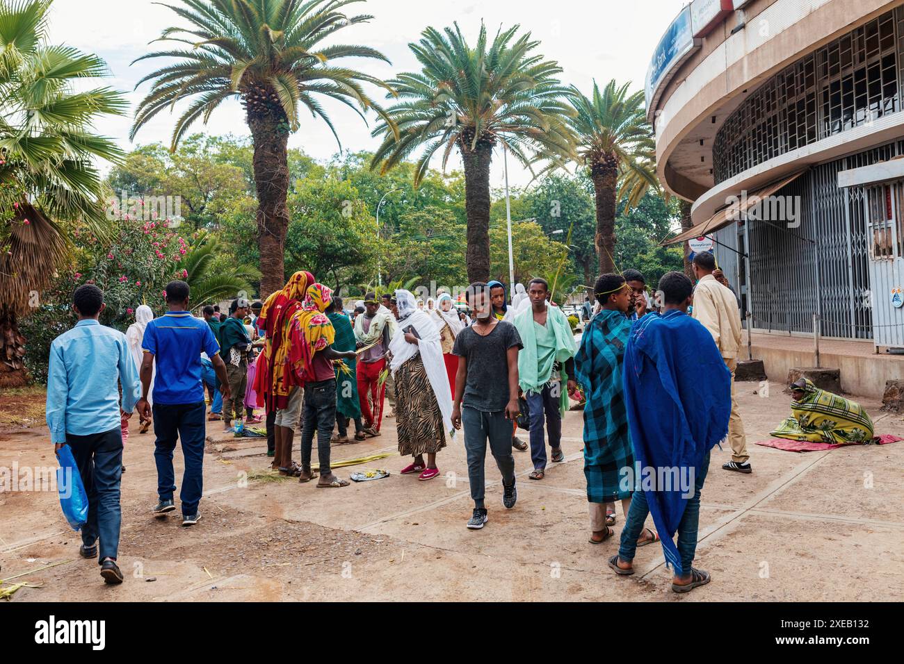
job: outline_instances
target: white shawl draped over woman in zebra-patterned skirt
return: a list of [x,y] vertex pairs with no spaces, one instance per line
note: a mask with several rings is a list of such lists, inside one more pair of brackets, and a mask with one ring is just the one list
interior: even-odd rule
[[[390,370],[394,374],[401,365],[420,353],[420,360],[427,371],[427,379],[433,388],[433,395],[437,399],[439,412],[443,416],[443,426],[446,433],[455,436],[452,427],[452,390],[449,388],[449,379],[446,373],[446,363],[443,361],[442,347],[439,345],[439,329],[437,323],[428,313],[420,310],[415,303],[414,295],[409,291],[396,291],[396,306],[399,309],[399,323],[396,332],[390,341],[392,361]],[[405,331],[413,327],[419,341],[409,343],[405,341]],[[398,398],[400,395],[396,395]]]

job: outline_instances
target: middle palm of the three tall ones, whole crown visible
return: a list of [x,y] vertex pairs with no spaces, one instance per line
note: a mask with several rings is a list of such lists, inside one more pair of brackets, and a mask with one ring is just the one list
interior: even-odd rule
[[545,159],[564,164],[573,154],[562,117],[572,112],[564,101],[567,89],[554,61],[532,53],[540,42],[530,33],[515,37],[519,26],[500,30],[491,44],[480,26],[476,47],[465,41],[458,24],[443,32],[429,27],[418,43],[410,43],[421,71],[400,73],[389,81],[400,101],[387,109],[398,126],[381,123],[383,136],[372,168],[386,173],[419,147],[414,182],[427,173],[430,158],[442,148],[445,169],[458,148],[465,165],[467,277],[485,281],[490,275],[490,162],[502,144],[527,168]]

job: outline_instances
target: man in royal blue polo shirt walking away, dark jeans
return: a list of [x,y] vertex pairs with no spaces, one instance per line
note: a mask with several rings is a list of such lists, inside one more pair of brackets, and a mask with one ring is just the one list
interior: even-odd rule
[[147,419],[151,406],[147,394],[156,362],[154,379],[154,460],[157,464],[157,493],[160,502],[155,516],[175,510],[173,494],[175,475],[173,452],[178,437],[182,440],[185,472],[182,477],[182,525],[198,522],[198,503],[203,490],[204,461],[204,388],[201,381],[201,352],[211,359],[213,370],[220,379],[223,399],[230,398],[226,365],[220,357],[220,344],[213,337],[210,325],[188,312],[188,284],[171,281],[166,285],[166,304],[169,312],[147,323],[141,363],[142,397],[138,400],[138,414]]

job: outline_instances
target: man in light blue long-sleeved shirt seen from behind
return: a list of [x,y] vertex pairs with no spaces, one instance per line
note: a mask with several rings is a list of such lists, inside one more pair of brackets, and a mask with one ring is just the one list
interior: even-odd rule
[[[80,554],[98,556],[100,575],[121,584],[119,482],[122,472],[121,416],[132,415],[140,396],[135,360],[126,335],[98,322],[106,306],[96,285],[72,297],[79,322],[51,344],[47,378],[47,426],[54,451],[68,444],[88,494],[88,522],[81,528]],[[120,413],[118,383],[122,385]]]

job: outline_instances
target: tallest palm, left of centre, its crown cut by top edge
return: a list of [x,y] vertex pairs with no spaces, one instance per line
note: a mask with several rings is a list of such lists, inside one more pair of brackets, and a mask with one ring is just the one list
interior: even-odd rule
[[172,150],[195,120],[200,117],[206,122],[224,100],[239,98],[245,108],[254,142],[261,295],[284,283],[289,185],[286,146],[288,135],[300,126],[302,109],[323,119],[334,136],[333,123],[318,98],[337,99],[361,117],[367,108],[383,114],[362,83],[387,88],[386,84],[334,64],[348,57],[388,62],[381,52],[367,46],[318,45],[337,30],[372,18],[340,11],[344,5],[361,1],[183,0],[182,5],[168,6],[188,26],[166,28],[160,40],[190,47],[154,51],[136,60],[181,59],[138,81],[141,85],[154,80],[137,108],[132,137],[161,110],[183,99],[191,102],[176,121]]

